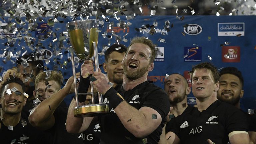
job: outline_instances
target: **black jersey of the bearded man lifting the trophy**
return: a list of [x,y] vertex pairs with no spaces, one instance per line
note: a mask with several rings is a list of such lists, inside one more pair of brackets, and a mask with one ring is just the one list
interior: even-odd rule
[[[161,115],[162,123],[146,137],[148,144],[157,144],[162,133],[165,117],[170,110],[169,99],[165,91],[147,81],[128,91],[125,91],[122,85],[117,85],[115,90],[136,109],[147,106]],[[109,103],[110,112],[100,118],[102,132],[100,144],[143,144],[143,138],[136,138],[125,129],[107,98],[104,99],[104,103]]]

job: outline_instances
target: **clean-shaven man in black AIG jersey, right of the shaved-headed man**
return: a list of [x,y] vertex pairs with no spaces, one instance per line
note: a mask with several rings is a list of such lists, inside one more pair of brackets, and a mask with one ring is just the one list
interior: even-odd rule
[[197,108],[171,119],[168,143],[248,144],[245,115],[232,105],[217,100],[219,74],[209,62],[192,68],[192,92]]

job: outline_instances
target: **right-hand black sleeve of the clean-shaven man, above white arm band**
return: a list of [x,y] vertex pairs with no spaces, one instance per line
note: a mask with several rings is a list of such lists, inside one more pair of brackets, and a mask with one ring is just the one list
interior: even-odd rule
[[227,132],[248,131],[248,121],[246,115],[236,107],[230,106],[226,114]]

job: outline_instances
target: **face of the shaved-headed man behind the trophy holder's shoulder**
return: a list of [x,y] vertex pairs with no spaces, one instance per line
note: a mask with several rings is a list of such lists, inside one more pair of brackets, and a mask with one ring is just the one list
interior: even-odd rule
[[171,104],[183,101],[186,95],[190,93],[186,79],[179,74],[172,74],[167,78],[164,90],[168,94]]

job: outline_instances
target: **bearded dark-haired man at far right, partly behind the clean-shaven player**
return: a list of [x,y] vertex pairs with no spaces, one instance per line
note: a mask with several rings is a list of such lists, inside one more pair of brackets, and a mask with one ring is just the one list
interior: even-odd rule
[[[220,101],[229,103],[240,108],[240,98],[244,95],[243,85],[244,79],[242,73],[235,67],[225,67],[220,73],[220,89],[217,93],[217,98]],[[250,136],[250,143],[256,140],[256,124],[251,115],[245,113],[249,123],[248,133]]]

